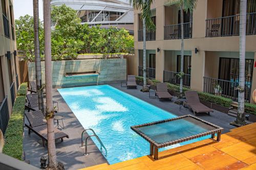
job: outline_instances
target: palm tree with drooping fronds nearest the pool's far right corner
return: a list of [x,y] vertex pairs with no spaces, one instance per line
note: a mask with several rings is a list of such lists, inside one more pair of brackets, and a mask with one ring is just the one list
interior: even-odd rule
[[142,10],[143,25],[143,88],[142,91],[148,91],[146,86],[146,28],[155,30],[155,25],[151,19],[151,4],[153,0],[130,0],[130,4],[137,10]]

